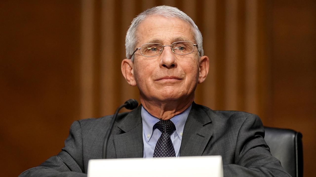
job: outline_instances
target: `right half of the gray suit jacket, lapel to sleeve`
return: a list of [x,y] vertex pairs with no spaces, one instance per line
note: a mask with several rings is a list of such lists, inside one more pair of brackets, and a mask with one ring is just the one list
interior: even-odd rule
[[180,147],[180,156],[191,155],[221,155],[224,176],[289,176],[270,154],[260,118],[247,112],[193,103]]

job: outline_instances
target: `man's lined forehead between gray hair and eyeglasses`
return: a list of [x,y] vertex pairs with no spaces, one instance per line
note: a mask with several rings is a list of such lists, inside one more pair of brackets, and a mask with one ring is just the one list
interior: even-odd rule
[[170,45],[177,41],[196,43],[191,24],[178,17],[149,15],[137,27],[136,35],[136,47],[144,43],[163,45]]

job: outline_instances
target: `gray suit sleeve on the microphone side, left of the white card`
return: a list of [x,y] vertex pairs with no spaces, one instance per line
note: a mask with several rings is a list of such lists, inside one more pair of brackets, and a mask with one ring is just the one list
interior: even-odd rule
[[82,130],[79,121],[72,123],[65,146],[57,156],[52,156],[38,167],[24,171],[19,177],[83,177]]

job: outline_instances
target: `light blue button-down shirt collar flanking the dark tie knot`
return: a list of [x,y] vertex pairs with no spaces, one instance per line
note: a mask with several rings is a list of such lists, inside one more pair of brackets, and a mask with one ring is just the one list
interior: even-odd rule
[[[182,140],[184,125],[191,111],[191,107],[192,107],[192,104],[186,110],[182,111],[180,114],[177,114],[170,119],[176,127],[176,131],[180,140]],[[147,141],[149,141],[153,134],[154,125],[160,120],[152,116],[151,114],[149,114],[149,112],[143,106],[141,110],[141,116],[142,116],[142,122],[143,122],[143,132],[147,138]]]

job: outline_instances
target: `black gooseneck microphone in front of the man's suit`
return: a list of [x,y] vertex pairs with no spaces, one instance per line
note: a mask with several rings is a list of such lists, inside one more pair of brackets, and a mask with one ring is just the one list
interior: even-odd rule
[[107,129],[106,131],[106,134],[104,136],[104,141],[103,141],[103,152],[102,152],[102,158],[106,158],[106,148],[107,148],[107,143],[108,143],[108,140],[109,140],[109,136],[110,136],[110,133],[112,132],[112,129],[113,129],[113,125],[114,125],[114,122],[115,122],[115,119],[119,113],[119,110],[122,109],[123,107],[125,107],[126,109],[129,109],[129,110],[132,110],[132,109],[135,109],[137,108],[138,106],[138,102],[135,100],[135,99],[129,99],[127,101],[125,101],[125,103],[121,106],[119,106],[115,113],[113,114],[113,117],[112,117],[112,120],[111,120],[111,123],[110,123],[110,127],[109,129]]

